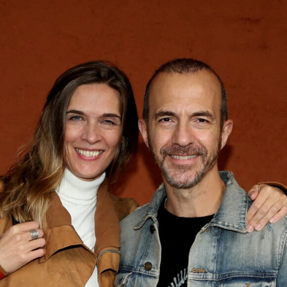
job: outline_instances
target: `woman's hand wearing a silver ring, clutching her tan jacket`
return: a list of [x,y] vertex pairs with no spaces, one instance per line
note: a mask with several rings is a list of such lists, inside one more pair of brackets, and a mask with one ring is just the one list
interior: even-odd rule
[[[32,240],[30,230],[36,229],[38,239]],[[45,255],[46,240],[35,221],[13,225],[0,236],[0,265],[12,273],[30,261]]]

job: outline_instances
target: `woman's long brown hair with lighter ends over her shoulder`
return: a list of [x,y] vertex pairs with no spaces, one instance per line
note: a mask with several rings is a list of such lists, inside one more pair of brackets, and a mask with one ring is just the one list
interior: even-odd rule
[[64,131],[67,106],[80,85],[103,83],[120,94],[122,138],[116,158],[106,170],[109,183],[128,163],[138,143],[138,114],[131,84],[113,64],[94,61],[64,72],[54,83],[36,132],[17,162],[2,179],[0,218],[13,215],[18,222],[37,221],[46,228],[46,212],[65,169]]

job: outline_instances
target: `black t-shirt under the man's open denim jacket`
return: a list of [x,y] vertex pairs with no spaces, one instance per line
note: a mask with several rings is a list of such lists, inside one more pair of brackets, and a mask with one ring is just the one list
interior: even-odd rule
[[[161,263],[157,287],[186,287],[191,245],[199,230],[213,218],[178,217],[168,212],[161,203],[158,213]],[[172,285],[173,284],[173,285]]]

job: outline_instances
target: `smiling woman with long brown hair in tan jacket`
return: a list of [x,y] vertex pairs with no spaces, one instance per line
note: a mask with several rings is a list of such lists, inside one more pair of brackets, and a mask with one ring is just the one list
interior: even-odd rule
[[112,64],[56,80],[30,145],[2,178],[0,286],[114,286],[119,220],[137,203],[108,191],[136,150],[137,121],[130,82]]

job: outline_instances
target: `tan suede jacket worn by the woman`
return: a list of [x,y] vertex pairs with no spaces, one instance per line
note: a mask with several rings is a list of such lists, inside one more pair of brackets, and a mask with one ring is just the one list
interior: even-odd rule
[[[97,193],[95,252],[84,245],[71,225],[71,217],[54,193],[47,212],[46,255],[0,280],[0,287],[84,287],[97,268],[100,287],[113,287],[120,260],[119,221],[138,206],[131,198],[111,195],[105,185]],[[0,234],[12,226],[0,219]]]

